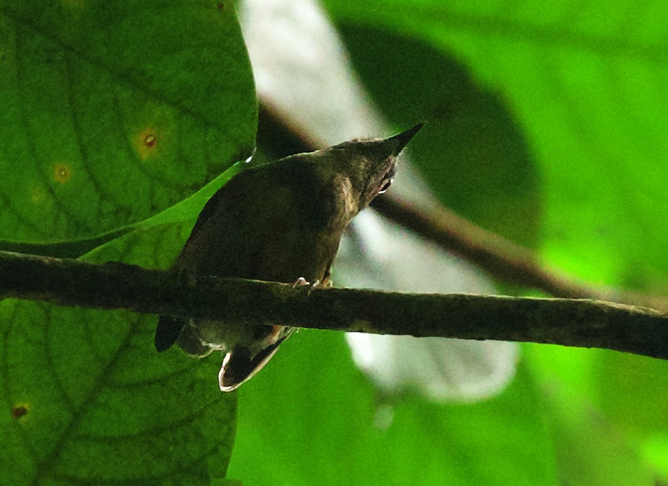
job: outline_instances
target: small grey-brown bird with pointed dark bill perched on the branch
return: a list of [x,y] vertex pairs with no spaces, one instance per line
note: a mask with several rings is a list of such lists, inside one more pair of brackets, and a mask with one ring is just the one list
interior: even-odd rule
[[[420,128],[242,171],[204,206],[175,270],[186,279],[325,282],[343,230],[388,188],[395,158]],[[176,342],[195,356],[224,352],[220,388],[231,391],[263,367],[292,330],[161,316],[155,347],[164,351]]]

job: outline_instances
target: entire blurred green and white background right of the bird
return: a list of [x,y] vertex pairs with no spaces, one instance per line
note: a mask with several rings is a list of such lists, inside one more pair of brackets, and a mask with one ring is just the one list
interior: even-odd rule
[[[249,0],[240,12],[260,101],[297,133],[327,145],[426,121],[405,157],[414,172],[402,166],[392,191],[437,197],[585,282],[667,291],[668,24],[651,2]],[[262,120],[260,142],[285,155]],[[413,244],[371,212],[349,236],[337,285],[535,294]],[[386,339],[351,342],[374,357],[368,375],[343,336],[302,331],[286,342],[240,390],[230,477],[668,478],[664,362],[522,345],[513,379],[515,351],[503,345]]]

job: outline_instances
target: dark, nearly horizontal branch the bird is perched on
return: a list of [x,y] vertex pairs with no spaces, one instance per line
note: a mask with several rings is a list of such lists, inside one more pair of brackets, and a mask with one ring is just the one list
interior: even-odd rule
[[437,295],[204,277],[0,251],[0,297],[238,324],[598,347],[668,359],[668,315],[595,300]]

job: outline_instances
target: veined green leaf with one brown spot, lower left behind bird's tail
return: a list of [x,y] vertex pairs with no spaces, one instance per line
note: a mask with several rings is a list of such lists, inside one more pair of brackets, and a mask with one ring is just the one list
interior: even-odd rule
[[[137,230],[88,260],[164,266],[191,224]],[[155,316],[0,304],[0,484],[208,485],[223,477],[236,395],[220,356],[153,349]]]

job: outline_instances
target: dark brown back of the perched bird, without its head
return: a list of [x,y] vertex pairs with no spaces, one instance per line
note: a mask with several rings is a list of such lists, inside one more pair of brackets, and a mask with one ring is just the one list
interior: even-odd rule
[[[277,168],[276,164],[285,165]],[[333,205],[340,198],[331,184],[321,180],[314,164],[298,157],[241,172],[204,206],[175,270],[187,280],[216,275],[323,282],[344,229],[333,216]],[[209,353],[186,324],[186,320],[162,316],[156,348],[169,349],[179,339],[188,353]],[[267,328],[256,332],[271,333]]]

